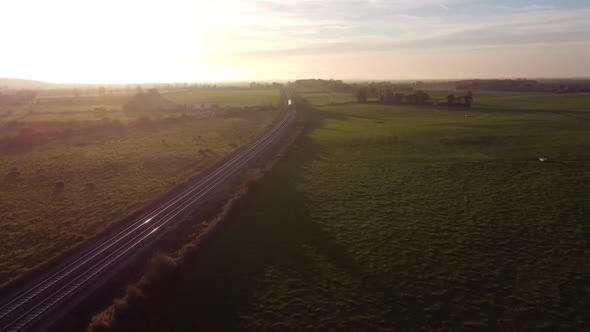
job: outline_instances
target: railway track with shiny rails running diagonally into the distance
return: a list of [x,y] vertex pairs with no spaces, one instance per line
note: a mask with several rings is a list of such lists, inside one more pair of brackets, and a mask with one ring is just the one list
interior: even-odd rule
[[117,264],[153,244],[169,226],[182,222],[187,211],[198,207],[216,189],[227,184],[254,159],[279,142],[292,126],[295,114],[295,106],[289,106],[270,130],[198,182],[25,285],[11,299],[0,304],[0,331],[26,331],[33,327],[43,329],[44,322],[51,320],[52,313],[63,310],[73,301],[81,301],[91,293],[88,290],[104,281]]

